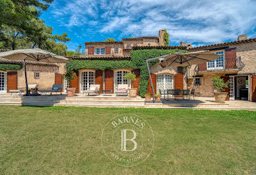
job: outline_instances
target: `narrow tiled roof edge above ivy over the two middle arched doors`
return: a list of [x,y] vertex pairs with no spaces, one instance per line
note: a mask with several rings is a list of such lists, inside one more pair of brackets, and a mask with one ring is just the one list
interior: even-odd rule
[[121,61],[130,60],[129,56],[113,56],[113,55],[79,55],[79,56],[66,56],[68,59],[73,60],[108,60],[108,61]]

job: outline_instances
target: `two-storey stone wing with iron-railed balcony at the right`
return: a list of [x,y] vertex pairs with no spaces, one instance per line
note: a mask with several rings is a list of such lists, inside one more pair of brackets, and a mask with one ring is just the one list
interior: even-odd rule
[[[182,45],[184,43],[181,43]],[[209,50],[220,55],[214,61],[187,70],[187,88],[196,95],[213,97],[211,79],[220,76],[229,81],[226,100],[244,99],[256,101],[256,37],[238,36],[237,41],[192,47],[188,51]]]

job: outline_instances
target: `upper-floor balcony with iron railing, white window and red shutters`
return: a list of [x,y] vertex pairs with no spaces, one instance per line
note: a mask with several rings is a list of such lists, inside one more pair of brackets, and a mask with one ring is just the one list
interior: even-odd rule
[[245,65],[240,57],[230,57],[228,59],[215,60],[208,63],[198,64],[195,67],[197,72],[220,72],[228,70],[241,70]]

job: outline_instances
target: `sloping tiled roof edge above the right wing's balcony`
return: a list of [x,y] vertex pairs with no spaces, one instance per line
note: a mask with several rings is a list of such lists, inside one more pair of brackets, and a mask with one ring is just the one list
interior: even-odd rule
[[192,47],[191,49],[189,49],[189,51],[201,51],[201,50],[207,50],[207,49],[213,49],[216,47],[225,47],[225,46],[229,46],[229,45],[238,45],[241,43],[251,43],[251,42],[255,42],[256,41],[256,37],[254,38],[249,38],[249,39],[244,39],[241,41],[231,41],[231,42],[226,42],[226,43],[216,43],[216,44],[212,44],[212,45],[203,45],[203,46],[199,46],[199,47]]

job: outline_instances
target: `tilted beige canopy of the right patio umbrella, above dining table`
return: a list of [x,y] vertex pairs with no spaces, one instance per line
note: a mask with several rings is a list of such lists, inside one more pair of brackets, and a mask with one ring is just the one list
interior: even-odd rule
[[197,51],[191,53],[172,53],[161,61],[164,66],[191,66],[193,64],[207,63],[218,59],[220,55],[211,53],[210,51]]

